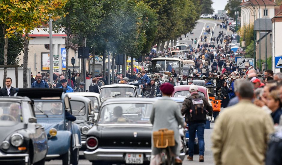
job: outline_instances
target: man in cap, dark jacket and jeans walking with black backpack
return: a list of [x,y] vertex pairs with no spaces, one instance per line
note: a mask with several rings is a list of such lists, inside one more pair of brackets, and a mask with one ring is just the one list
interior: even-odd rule
[[194,139],[197,136],[199,140],[199,162],[204,162],[204,130],[206,124],[206,115],[212,116],[212,107],[206,98],[198,94],[198,87],[190,85],[190,97],[186,98],[182,105],[181,113],[185,115],[185,121],[189,126],[189,150],[187,159],[193,161]]

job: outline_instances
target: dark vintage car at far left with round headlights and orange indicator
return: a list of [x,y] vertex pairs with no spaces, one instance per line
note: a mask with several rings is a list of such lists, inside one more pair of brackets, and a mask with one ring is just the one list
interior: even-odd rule
[[47,136],[29,98],[1,98],[0,129],[0,164],[44,164]]

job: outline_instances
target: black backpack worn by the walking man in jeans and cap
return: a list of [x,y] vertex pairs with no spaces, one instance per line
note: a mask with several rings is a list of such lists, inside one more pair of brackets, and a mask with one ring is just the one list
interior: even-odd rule
[[207,112],[205,110],[204,101],[202,96],[200,98],[187,98],[191,101],[191,110],[188,121],[203,121],[206,120]]

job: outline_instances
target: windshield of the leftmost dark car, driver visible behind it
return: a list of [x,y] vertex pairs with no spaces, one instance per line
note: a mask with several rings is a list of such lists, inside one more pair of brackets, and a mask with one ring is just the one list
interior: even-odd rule
[[0,101],[0,123],[2,121],[22,122],[21,104],[11,101]]

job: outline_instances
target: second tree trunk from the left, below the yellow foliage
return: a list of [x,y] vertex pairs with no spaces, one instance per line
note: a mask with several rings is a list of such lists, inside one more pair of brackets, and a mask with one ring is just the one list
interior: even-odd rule
[[30,76],[30,75],[27,75],[27,61],[28,61],[28,56],[29,56],[29,34],[28,33],[25,33],[23,46],[24,46],[24,51],[23,51],[23,88],[27,88],[28,87],[27,86],[28,77]]

